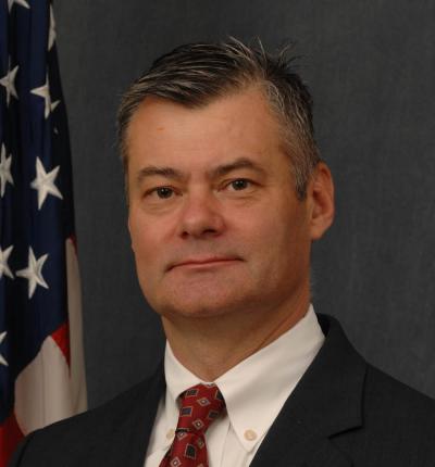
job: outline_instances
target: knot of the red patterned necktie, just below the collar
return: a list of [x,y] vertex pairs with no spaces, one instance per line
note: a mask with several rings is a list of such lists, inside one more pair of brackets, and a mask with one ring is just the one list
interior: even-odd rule
[[186,390],[181,400],[176,432],[204,433],[225,407],[224,397],[214,383],[196,384]]

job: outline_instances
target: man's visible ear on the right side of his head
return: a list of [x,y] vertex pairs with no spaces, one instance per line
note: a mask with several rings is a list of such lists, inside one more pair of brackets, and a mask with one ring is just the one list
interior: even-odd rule
[[334,220],[334,182],[331,171],[320,162],[307,187],[307,198],[311,206],[309,229],[311,240],[319,240]]

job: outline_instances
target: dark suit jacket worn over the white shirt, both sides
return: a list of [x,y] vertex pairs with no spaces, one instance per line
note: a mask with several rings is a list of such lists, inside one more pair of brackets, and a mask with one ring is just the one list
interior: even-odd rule
[[[369,365],[334,318],[319,318],[325,343],[251,466],[434,467],[435,401]],[[105,405],[28,436],[11,467],[142,467],[164,389],[159,368]]]

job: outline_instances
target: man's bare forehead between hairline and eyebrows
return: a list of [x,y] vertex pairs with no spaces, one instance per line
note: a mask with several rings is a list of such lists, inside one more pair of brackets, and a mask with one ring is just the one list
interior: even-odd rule
[[258,87],[195,109],[146,98],[126,132],[129,168],[145,161],[191,166],[225,156],[261,159],[279,150],[281,141],[281,126]]

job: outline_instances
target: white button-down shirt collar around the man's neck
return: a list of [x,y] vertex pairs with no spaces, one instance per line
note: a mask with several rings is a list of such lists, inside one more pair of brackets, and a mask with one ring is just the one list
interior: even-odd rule
[[[323,341],[322,329],[310,305],[304,317],[287,332],[214,381],[225,399],[233,429],[246,451],[251,451],[265,436]],[[191,386],[210,381],[201,381],[185,368],[167,342],[164,369],[166,421],[169,426],[176,426],[178,395]],[[247,430],[253,431],[257,438],[246,439]]]

